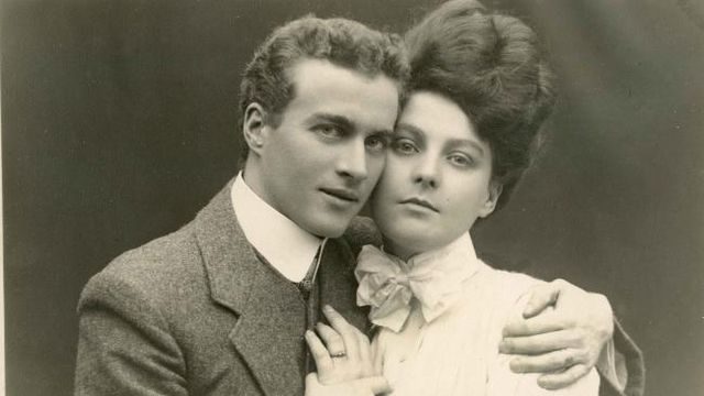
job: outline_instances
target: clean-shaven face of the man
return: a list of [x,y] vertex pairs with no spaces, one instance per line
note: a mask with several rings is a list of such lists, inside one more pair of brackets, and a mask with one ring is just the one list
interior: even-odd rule
[[262,130],[255,190],[306,231],[339,237],[384,168],[398,87],[320,59],[298,62],[289,78],[280,124]]

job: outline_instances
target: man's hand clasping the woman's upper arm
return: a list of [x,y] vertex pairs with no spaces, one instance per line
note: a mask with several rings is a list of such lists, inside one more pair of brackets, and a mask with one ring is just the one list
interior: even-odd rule
[[499,351],[518,355],[513,372],[543,373],[538,384],[559,389],[590,372],[613,332],[606,297],[557,279],[532,289],[522,318],[504,327]]

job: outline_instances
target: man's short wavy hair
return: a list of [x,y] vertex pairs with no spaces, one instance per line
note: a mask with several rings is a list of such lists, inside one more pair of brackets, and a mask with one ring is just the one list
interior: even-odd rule
[[[278,116],[295,95],[288,69],[300,59],[326,59],[369,77],[385,75],[398,82],[402,95],[409,76],[400,36],[348,19],[307,15],[274,30],[254,53],[240,85],[240,127],[253,102],[266,110],[265,122],[278,127]],[[243,144],[242,160],[248,153]]]

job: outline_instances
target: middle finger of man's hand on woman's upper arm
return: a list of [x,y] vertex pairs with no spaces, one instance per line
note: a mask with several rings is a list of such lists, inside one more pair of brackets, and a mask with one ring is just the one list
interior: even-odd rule
[[582,344],[583,339],[578,330],[558,330],[528,337],[506,337],[498,343],[498,351],[505,354],[537,355],[579,348]]

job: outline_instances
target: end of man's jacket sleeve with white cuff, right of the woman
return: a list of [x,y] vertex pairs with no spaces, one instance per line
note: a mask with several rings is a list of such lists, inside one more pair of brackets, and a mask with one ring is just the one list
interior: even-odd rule
[[602,377],[601,396],[642,396],[646,369],[642,353],[614,318],[614,337],[602,352],[596,369]]

